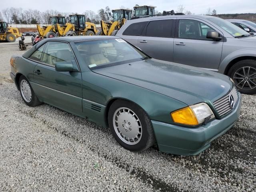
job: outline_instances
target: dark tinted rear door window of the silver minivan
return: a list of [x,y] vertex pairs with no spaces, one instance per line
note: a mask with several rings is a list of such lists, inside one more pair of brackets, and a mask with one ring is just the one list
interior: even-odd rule
[[150,21],[147,26],[146,36],[171,37],[173,20]]

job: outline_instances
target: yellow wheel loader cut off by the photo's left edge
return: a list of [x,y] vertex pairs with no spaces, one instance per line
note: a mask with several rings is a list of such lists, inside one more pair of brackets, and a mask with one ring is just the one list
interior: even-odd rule
[[18,28],[9,27],[6,22],[0,21],[0,41],[15,42],[21,35]]

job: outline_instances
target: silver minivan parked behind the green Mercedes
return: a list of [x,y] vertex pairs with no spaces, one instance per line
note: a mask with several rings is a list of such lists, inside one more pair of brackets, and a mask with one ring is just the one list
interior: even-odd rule
[[152,58],[230,76],[244,94],[256,93],[256,36],[213,16],[170,15],[128,20],[116,36]]

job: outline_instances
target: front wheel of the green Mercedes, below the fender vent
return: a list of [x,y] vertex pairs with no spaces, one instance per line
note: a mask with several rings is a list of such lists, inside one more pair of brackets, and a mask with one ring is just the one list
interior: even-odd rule
[[[120,113],[123,108],[125,108],[124,112]],[[118,117],[116,114],[119,114]],[[114,123],[115,120],[118,120],[118,123]],[[134,152],[144,151],[155,143],[154,130],[150,118],[140,106],[132,102],[121,99],[116,100],[110,106],[108,123],[116,141],[127,150]],[[122,134],[128,134],[128,137],[130,136],[134,140],[122,137]]]

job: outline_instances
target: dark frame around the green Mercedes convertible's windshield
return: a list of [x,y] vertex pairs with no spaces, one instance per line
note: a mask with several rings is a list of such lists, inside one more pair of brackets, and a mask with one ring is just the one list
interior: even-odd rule
[[[74,42],[74,47],[76,48],[76,52],[78,52],[79,54],[79,57],[82,57],[79,50],[78,50],[78,47],[77,45],[79,44],[82,44],[82,43],[85,43],[85,42],[93,42],[93,41],[104,41],[104,40],[116,40],[116,39],[121,39],[121,38],[104,38],[104,39],[92,39],[92,40],[80,40],[80,41],[75,41]],[[123,39],[121,39],[123,40]],[[124,40],[125,41],[125,40]],[[95,70],[95,69],[100,69],[100,68],[106,68],[106,67],[112,67],[112,66],[116,66],[116,65],[121,65],[121,64],[128,64],[128,63],[131,63],[131,62],[136,62],[136,61],[141,61],[141,60],[146,60],[146,59],[151,59],[150,56],[148,56],[146,53],[144,53],[142,50],[140,50],[139,48],[137,48],[136,46],[130,44],[129,42],[125,41],[124,43],[128,44],[129,46],[131,46],[132,48],[134,48],[134,50],[136,50],[139,54],[142,55],[141,58],[134,58],[134,59],[129,59],[129,60],[123,60],[123,61],[118,61],[118,62],[110,62],[110,63],[107,63],[107,64],[100,64],[100,65],[97,65],[97,66],[94,66],[94,67],[89,67],[89,64],[85,63],[85,66],[90,69],[91,71],[92,70]],[[143,56],[144,55],[144,56]],[[83,59],[82,59],[83,60]]]

